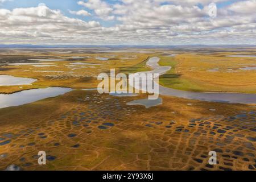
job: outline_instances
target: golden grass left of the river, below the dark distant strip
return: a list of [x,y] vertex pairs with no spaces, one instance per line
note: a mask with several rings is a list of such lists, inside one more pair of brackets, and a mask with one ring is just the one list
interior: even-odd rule
[[[36,57],[42,55],[39,53],[33,53],[32,55],[27,53],[22,56]],[[56,65],[53,67],[34,67],[33,65],[1,66],[1,75],[35,78],[38,81],[31,85],[0,86],[0,93],[13,93],[46,86],[63,86],[73,89],[96,88],[99,82],[97,76],[100,73],[109,73],[110,68],[115,68],[118,72],[119,69],[134,67],[148,57],[143,53],[48,54],[47,56],[54,57],[55,59],[70,59],[72,56],[89,58],[70,59],[70,61],[40,61],[40,63]],[[96,57],[108,57],[109,60],[97,60]],[[125,57],[133,59],[123,59]],[[71,65],[71,63],[76,62],[95,65]]]

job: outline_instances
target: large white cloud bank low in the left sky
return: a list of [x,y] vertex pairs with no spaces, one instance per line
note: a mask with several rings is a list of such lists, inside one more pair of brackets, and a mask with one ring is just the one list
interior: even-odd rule
[[[44,7],[46,16],[39,16],[43,7],[0,9],[0,37],[3,41],[60,43],[90,39],[101,28],[99,22],[68,18],[59,10]],[[77,42],[79,43],[79,42]]]

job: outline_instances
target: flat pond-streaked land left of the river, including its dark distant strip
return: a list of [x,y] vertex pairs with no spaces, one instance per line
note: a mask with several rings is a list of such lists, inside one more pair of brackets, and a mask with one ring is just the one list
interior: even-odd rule
[[[0,75],[35,78],[38,81],[31,85],[0,86],[0,93],[13,93],[47,86],[70,87],[73,89],[97,88],[97,76],[100,73],[109,73],[110,68],[115,68],[118,72],[121,68],[140,65],[148,58],[148,55],[144,53],[115,53],[113,55],[113,53],[65,52],[60,54],[60,51],[24,52],[2,51],[0,53],[0,64],[2,64],[0,65]],[[101,58],[108,60],[99,60]],[[54,59],[63,61],[54,61]],[[29,63],[29,65],[24,65],[26,63]]]

